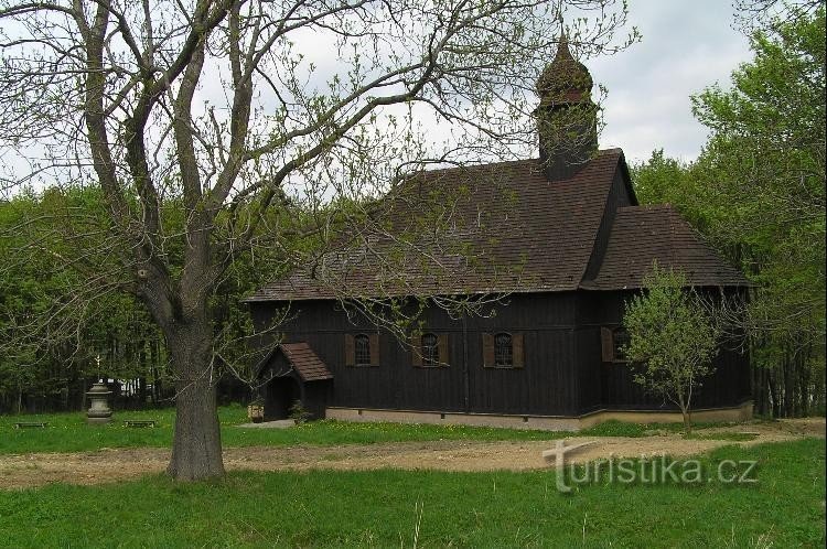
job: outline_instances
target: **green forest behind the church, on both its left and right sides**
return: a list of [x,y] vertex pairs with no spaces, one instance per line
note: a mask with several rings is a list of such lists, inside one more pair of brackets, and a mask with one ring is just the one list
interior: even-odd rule
[[[733,72],[731,88],[692,97],[696,117],[710,129],[699,158],[684,163],[655,151],[632,166],[642,204],[675,205],[755,283],[744,329],[756,412],[765,416],[824,412],[824,39],[823,8],[758,25],[754,58]],[[78,240],[107,238],[98,193],[50,189],[0,202],[2,412],[79,409],[84,390],[101,376],[136,380],[132,405],[171,403],[168,352],[143,305],[116,291],[82,305],[72,300],[96,277],[79,263],[66,268],[61,250],[98,248]],[[174,226],[175,209],[169,215]],[[78,225],[84,218],[94,230]],[[222,399],[249,396],[236,380],[249,379],[237,365],[255,362],[245,354],[250,326],[238,299],[278,274],[278,258],[240,255],[213,294],[216,357],[226,366]],[[32,323],[43,330],[29,330]]]

